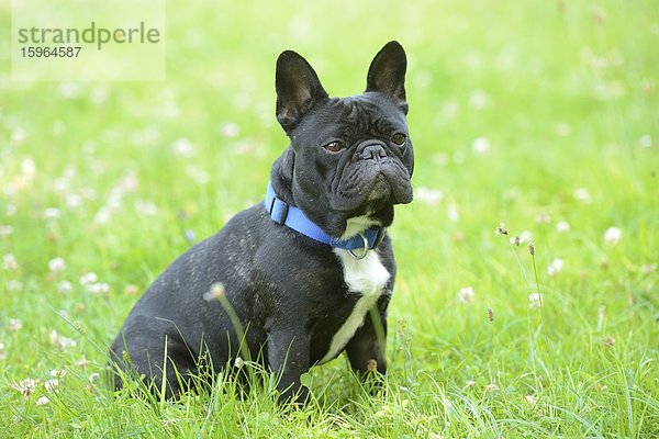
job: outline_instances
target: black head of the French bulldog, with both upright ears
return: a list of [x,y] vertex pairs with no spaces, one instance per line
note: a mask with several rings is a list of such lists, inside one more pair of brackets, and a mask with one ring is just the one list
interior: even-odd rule
[[332,236],[359,217],[389,226],[394,204],[412,201],[406,57],[390,42],[376,55],[366,91],[330,98],[311,65],[287,50],[277,60],[277,120],[291,140],[272,184]]

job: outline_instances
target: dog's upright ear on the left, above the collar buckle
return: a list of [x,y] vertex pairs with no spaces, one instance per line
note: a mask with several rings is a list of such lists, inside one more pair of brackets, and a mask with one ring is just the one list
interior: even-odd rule
[[282,52],[277,58],[275,89],[277,120],[287,133],[313,105],[327,99],[313,67],[293,50]]

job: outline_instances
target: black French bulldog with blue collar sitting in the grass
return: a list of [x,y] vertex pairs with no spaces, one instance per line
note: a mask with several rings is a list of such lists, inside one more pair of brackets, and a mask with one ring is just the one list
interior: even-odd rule
[[305,401],[301,375],[343,351],[360,376],[387,371],[396,270],[387,227],[413,192],[405,70],[403,47],[390,42],[364,93],[330,98],[302,56],[281,53],[276,114],[290,145],[265,202],[148,288],[110,348],[115,368],[177,397],[201,360],[213,374],[253,359],[278,374],[281,401]]

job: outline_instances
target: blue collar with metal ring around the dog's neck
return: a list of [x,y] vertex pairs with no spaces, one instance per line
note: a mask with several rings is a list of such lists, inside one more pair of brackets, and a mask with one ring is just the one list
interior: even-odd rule
[[313,221],[309,219],[300,209],[289,205],[277,196],[275,189],[272,189],[272,183],[268,183],[268,192],[266,193],[264,204],[275,223],[286,225],[319,243],[334,248],[346,249],[356,259],[365,258],[369,250],[378,247],[384,236],[383,227],[371,227],[348,239],[333,238],[323,232]]

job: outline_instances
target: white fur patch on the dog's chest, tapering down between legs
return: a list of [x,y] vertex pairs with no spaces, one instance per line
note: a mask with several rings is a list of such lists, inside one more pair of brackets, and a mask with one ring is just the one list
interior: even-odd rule
[[336,331],[330,344],[330,349],[321,363],[335,358],[348,344],[357,329],[364,325],[364,319],[369,309],[376,304],[384,285],[389,281],[389,271],[380,261],[376,251],[369,251],[364,259],[354,259],[347,250],[335,249],[344,269],[344,280],[351,293],[361,296],[355,303],[353,312]]

